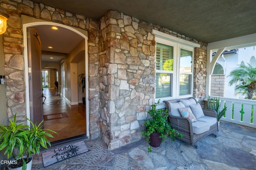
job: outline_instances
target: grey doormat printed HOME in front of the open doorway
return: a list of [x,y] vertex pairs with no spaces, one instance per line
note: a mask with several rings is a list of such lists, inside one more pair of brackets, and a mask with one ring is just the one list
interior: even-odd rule
[[76,142],[42,153],[44,167],[90,151],[84,141]]

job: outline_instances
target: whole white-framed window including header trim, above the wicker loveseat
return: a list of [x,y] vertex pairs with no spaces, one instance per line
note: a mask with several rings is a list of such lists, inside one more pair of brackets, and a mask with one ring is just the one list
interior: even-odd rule
[[194,48],[200,44],[152,30],[156,40],[156,94],[164,100],[193,97]]

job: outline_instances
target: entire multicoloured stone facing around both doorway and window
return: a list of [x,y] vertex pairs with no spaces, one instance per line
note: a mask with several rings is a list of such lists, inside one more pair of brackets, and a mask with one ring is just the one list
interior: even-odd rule
[[152,29],[199,43],[194,51],[194,97],[205,97],[206,45],[166,28],[110,11],[96,22],[29,0],[2,0],[10,15],[4,33],[7,115],[25,123],[24,45],[21,14],[88,31],[90,137],[109,149],[142,138],[143,122],[155,93]]

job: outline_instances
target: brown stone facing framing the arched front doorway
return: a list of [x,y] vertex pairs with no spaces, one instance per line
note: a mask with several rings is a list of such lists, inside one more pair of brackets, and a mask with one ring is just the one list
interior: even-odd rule
[[[24,30],[22,30],[21,18],[21,15],[25,15],[88,31],[88,53],[95,55],[95,58],[90,55],[90,73],[88,73],[90,82],[89,105],[92,106],[90,107],[90,135],[92,138],[99,137],[100,126],[97,107],[99,99],[96,90],[98,87],[97,81],[99,82],[98,67],[96,66],[98,65],[98,22],[41,3],[36,4],[30,0],[2,0],[0,5],[10,15],[7,21],[7,30],[3,36],[8,117],[12,118],[17,113],[18,122],[26,123]],[[90,67],[93,69],[90,69]],[[93,73],[92,70],[96,70],[96,72]]]

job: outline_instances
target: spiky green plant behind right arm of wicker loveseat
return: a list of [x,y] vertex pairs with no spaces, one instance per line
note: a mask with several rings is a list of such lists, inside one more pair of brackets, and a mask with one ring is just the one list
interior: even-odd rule
[[[221,101],[222,102],[222,101]],[[207,99],[208,109],[214,110],[217,112],[217,120],[220,121],[220,119],[223,117],[223,115],[226,113],[227,107],[224,106],[224,108],[220,111],[220,97],[214,97],[213,99],[210,99],[208,96]]]

